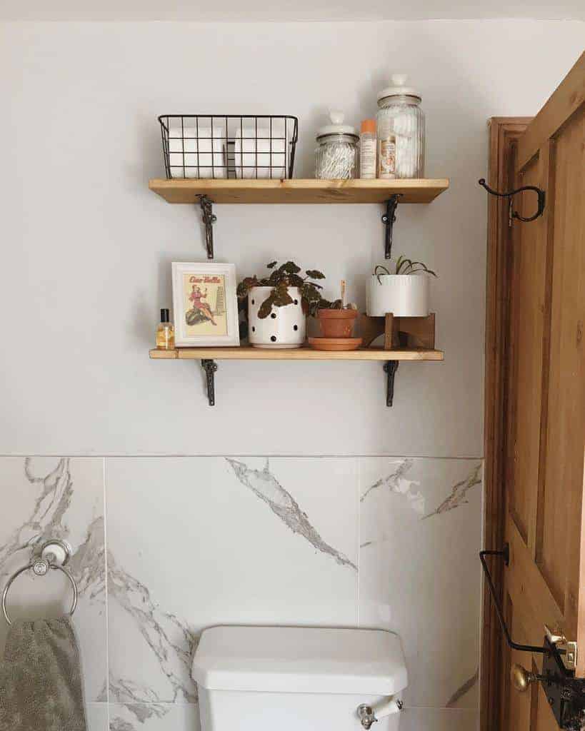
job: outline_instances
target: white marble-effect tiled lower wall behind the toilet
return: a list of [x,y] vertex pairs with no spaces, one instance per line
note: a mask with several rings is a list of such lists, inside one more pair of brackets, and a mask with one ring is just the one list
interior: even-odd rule
[[[482,464],[418,458],[0,458],[0,586],[73,547],[90,731],[197,731],[212,624],[382,627],[402,638],[401,731],[478,724]],[[20,577],[14,616],[67,607]],[[0,652],[6,627],[0,623]]]

